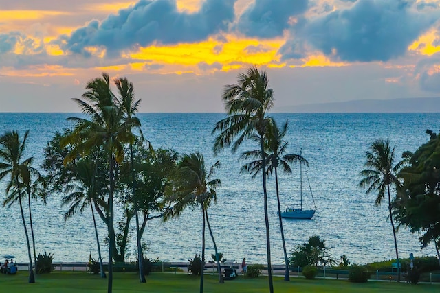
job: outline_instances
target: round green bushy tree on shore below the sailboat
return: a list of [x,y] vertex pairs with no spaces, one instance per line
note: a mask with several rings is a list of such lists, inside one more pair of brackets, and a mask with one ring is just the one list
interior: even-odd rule
[[290,261],[293,266],[302,268],[305,266],[326,266],[335,262],[329,255],[325,240],[320,239],[319,236],[311,236],[307,242],[294,246]]

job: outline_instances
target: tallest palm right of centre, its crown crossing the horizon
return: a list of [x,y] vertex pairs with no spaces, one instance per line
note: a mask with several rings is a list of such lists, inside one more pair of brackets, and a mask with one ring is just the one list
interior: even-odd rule
[[[232,144],[232,152],[240,147],[246,139],[258,133],[262,154],[262,169],[265,164],[265,135],[267,126],[272,120],[266,116],[274,101],[274,91],[269,88],[269,80],[265,72],[260,72],[256,67],[248,69],[248,73],[240,73],[238,82],[225,86],[222,95],[228,117],[218,121],[212,134],[220,132],[214,139],[214,154]],[[272,281],[272,264],[270,257],[270,228],[267,212],[266,173],[263,172],[263,197],[264,215],[266,226],[267,270],[269,274],[270,293],[274,292]]]

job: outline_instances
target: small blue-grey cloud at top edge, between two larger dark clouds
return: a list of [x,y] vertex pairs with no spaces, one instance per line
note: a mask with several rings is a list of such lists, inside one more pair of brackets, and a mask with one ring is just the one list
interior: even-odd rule
[[246,36],[282,36],[290,27],[289,18],[303,14],[308,6],[308,0],[255,0],[240,16],[236,28]]

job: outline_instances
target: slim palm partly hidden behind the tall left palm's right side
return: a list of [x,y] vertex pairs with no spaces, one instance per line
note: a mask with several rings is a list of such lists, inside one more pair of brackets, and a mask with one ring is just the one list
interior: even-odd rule
[[[129,121],[131,118],[135,117],[135,113],[139,110],[139,104],[140,99],[135,101],[135,93],[134,93],[134,86],[132,82],[129,82],[126,78],[117,78],[114,80],[115,85],[118,88],[119,92],[119,99],[118,99],[118,105],[122,109],[122,113],[124,115],[124,120]],[[129,131],[129,134],[133,133],[131,132],[131,128],[127,129]],[[137,131],[140,133],[140,137],[143,138],[142,130],[140,127],[137,127]],[[137,263],[139,266],[139,281],[140,283],[145,283],[145,275],[144,275],[144,268],[143,268],[143,261],[142,261],[142,243],[141,243],[141,237],[140,237],[140,224],[139,224],[139,204],[136,201],[136,180],[135,180],[135,167],[134,167],[134,158],[133,158],[133,141],[134,137],[129,141],[129,148],[130,148],[130,161],[131,161],[131,179],[132,179],[132,193],[133,193],[133,200],[134,200],[134,206],[135,206],[135,219],[136,219],[136,243],[137,243]]]

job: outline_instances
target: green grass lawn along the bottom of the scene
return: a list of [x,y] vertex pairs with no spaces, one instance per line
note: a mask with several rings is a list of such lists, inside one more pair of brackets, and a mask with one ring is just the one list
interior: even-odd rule
[[[188,274],[153,273],[147,276],[146,283],[139,283],[134,272],[115,273],[113,292],[198,292],[199,277]],[[107,292],[107,279],[87,272],[52,272],[51,274],[36,275],[36,283],[28,283],[28,274],[19,272],[17,275],[0,274],[2,288],[9,288],[14,293],[52,293],[52,292]],[[248,279],[238,277],[234,280],[219,284],[217,276],[205,275],[203,292],[269,292],[267,277]],[[439,292],[439,284],[419,284],[395,282],[350,283],[334,279],[305,280],[292,278],[290,282],[283,281],[281,277],[274,277],[275,292],[399,292],[423,293]]]

